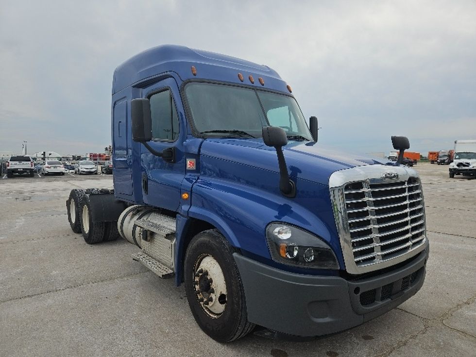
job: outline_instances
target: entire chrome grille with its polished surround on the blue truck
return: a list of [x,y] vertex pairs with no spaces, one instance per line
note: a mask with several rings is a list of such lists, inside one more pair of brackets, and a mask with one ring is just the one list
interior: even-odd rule
[[[400,173],[398,179],[385,179],[371,171],[366,180],[341,183],[345,175],[340,173],[340,186],[330,185],[342,253],[350,273],[385,268],[425,248],[425,204],[420,179],[410,175],[411,169],[392,170]],[[359,173],[360,177],[364,174]]]

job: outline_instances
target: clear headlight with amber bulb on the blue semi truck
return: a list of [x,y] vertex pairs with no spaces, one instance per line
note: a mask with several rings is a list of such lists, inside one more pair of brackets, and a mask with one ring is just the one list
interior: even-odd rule
[[266,239],[278,263],[303,268],[339,269],[332,249],[321,238],[285,223],[270,223]]

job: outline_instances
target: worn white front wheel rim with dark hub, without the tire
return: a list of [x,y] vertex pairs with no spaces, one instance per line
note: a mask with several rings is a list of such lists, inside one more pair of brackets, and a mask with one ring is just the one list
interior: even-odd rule
[[210,255],[201,255],[194,268],[193,284],[204,312],[218,318],[226,307],[226,284],[220,264]]

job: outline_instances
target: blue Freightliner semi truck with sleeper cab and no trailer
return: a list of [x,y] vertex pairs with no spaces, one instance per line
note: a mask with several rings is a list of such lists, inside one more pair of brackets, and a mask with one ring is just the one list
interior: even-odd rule
[[75,189],[87,243],[119,237],[227,342],[256,325],[319,336],[373,319],[423,285],[416,171],[326,150],[267,66],[181,46],[132,57],[112,85],[114,190]]

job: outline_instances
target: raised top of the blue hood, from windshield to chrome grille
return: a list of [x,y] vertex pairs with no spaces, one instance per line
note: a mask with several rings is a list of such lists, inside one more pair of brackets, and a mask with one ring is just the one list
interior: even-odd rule
[[[283,153],[291,177],[323,185],[329,184],[329,176],[335,171],[389,163],[385,159],[338,152],[309,141],[289,141],[288,145],[283,147]],[[266,146],[261,138],[208,138],[204,140],[200,154],[279,172],[276,150]]]

